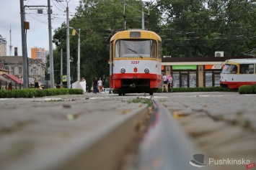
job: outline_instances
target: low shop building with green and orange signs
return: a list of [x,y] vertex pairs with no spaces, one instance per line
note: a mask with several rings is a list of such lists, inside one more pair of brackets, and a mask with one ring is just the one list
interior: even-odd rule
[[252,57],[163,57],[162,72],[172,74],[173,88],[219,87],[225,60]]

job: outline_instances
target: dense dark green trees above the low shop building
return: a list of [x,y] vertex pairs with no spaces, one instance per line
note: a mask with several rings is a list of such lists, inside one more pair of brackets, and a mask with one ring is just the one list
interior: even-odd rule
[[[206,5],[207,4],[207,5]],[[254,1],[159,0],[163,53],[172,57],[240,56],[255,47]]]

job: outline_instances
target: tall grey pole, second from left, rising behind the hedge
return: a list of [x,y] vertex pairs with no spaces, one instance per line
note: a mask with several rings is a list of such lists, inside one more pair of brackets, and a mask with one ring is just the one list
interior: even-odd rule
[[48,31],[49,31],[49,56],[50,56],[50,88],[54,88],[54,72],[53,72],[53,37],[51,33],[50,0],[48,0]]

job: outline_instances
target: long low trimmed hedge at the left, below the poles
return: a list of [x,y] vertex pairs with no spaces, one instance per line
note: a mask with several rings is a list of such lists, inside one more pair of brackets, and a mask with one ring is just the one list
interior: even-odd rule
[[22,90],[0,90],[0,98],[39,98],[51,95],[82,95],[84,93],[81,89],[22,89]]

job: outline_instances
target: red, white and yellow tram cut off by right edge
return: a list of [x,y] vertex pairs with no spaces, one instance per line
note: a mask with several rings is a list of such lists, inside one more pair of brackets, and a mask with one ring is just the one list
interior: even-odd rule
[[221,87],[237,89],[242,85],[256,84],[256,59],[226,60],[221,71]]

